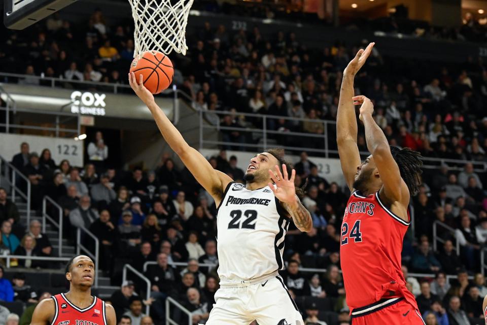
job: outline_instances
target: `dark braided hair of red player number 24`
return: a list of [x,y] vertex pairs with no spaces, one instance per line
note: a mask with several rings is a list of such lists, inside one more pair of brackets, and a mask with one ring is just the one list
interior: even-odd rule
[[394,146],[391,146],[391,153],[399,166],[399,172],[409,189],[409,194],[415,196],[420,191],[421,174],[423,173],[421,153],[409,148],[400,149]]

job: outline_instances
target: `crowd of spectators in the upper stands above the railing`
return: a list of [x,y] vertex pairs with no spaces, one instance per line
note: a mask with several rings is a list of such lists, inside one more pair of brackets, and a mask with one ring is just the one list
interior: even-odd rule
[[[127,83],[125,71],[133,54],[131,24],[110,25],[101,11],[93,13],[86,25],[75,26],[53,15],[45,25],[21,33],[7,31],[3,37],[9,46],[0,50],[0,63],[10,72],[62,77],[64,86],[71,87],[71,80]],[[208,122],[233,127],[221,131],[224,148],[244,149],[243,144],[258,142],[246,128],[263,128],[263,119],[243,113],[278,116],[267,118],[265,125],[275,132],[268,138],[278,143],[300,147],[305,142],[324,149],[322,137],[327,136],[328,148],[335,148],[334,124],[324,127],[323,121],[336,119],[341,72],[365,43],[307,48],[294,32],[264,37],[257,27],[230,31],[207,22],[188,35],[188,45],[185,57],[172,57],[174,82],[188,93],[194,108],[206,111]],[[484,161],[487,67],[483,61],[468,57],[459,65],[403,60],[383,57],[379,51],[377,45],[357,76],[356,93],[374,101],[376,121],[391,144],[424,156]],[[28,76],[18,82],[50,85]],[[96,145],[90,156],[99,159],[106,151],[102,143]],[[359,145],[366,151],[362,135]]]

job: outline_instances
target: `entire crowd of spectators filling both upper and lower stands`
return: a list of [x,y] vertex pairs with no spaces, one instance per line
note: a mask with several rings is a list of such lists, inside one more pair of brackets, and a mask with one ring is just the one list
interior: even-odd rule
[[[11,46],[0,50],[16,51],[28,62],[23,67],[26,74],[125,83],[120,76],[125,75],[121,72],[128,67],[133,51],[129,27],[112,29],[99,11],[85,27],[72,26],[56,15],[48,18],[45,26],[36,26],[34,35],[7,34],[6,42]],[[194,39],[197,41],[192,42]],[[206,111],[209,121],[241,127],[241,132],[222,135],[235,146],[250,140],[244,127],[262,123],[258,117],[243,117],[241,113],[282,117],[268,119],[266,125],[280,132],[276,135],[280,143],[292,144],[287,131],[324,134],[320,120],[336,118],[341,71],[357,50],[338,43],[330,48],[306,49],[293,33],[280,32],[265,39],[257,28],[230,33],[210,23],[188,40],[187,58],[175,60],[180,69],[175,81],[190,95],[195,108]],[[74,43],[82,45],[83,50],[71,46]],[[13,57],[4,54],[0,63]],[[413,64],[415,69],[411,69]],[[18,68],[15,62],[11,67]],[[374,101],[375,119],[391,145],[407,146],[429,157],[485,161],[487,71],[481,61],[469,58],[457,67],[404,62],[382,57],[374,49],[364,68],[357,76],[357,93]],[[19,82],[43,84],[29,77]],[[219,116],[212,112],[217,110],[231,113]],[[310,120],[301,123],[286,119],[289,117]],[[328,128],[331,139],[334,132]],[[86,166],[53,161],[49,150],[39,156],[27,143],[21,145],[13,164],[31,182],[32,208],[38,210],[47,194],[62,207],[63,233],[68,240],[75,238],[74,231],[80,226],[100,240],[99,267],[103,272],[117,279],[120,265],[130,263],[150,279],[148,301],[140,299],[143,286],[136,279],[122,283],[111,297],[120,323],[149,322],[143,314],[147,304],[156,322],[163,322],[168,296],[192,312],[194,323],[204,322],[218,288],[215,267],[200,266],[218,264],[213,199],[169,155],[162,157],[154,171],[104,166],[100,161],[106,159],[108,149],[99,140],[97,136]],[[362,133],[358,145],[367,151]],[[241,181],[243,171],[238,169],[235,156],[227,158],[222,150],[209,160],[214,168]],[[314,229],[300,233],[290,226],[283,278],[307,322],[343,325],[350,317],[339,272],[339,241],[348,193],[320,177],[318,167],[305,152],[296,170],[296,185],[308,180],[303,204],[312,215]],[[487,294],[485,279],[478,274],[480,251],[487,239],[487,199],[482,185],[487,179],[469,163],[425,169],[423,180],[419,195],[413,199],[415,229],[410,228],[404,241],[403,272],[408,288],[418,299],[428,324],[475,324],[481,321],[481,308],[477,308],[480,297]],[[41,234],[40,224],[33,221],[26,232],[18,209],[3,189],[0,217],[1,249],[26,256],[52,254],[52,245]],[[432,249],[435,221],[455,229],[451,233],[437,228],[444,244],[436,251]],[[146,262],[152,262],[147,269]],[[175,262],[188,265],[177,268]],[[18,265],[47,267],[28,259],[18,261]],[[302,272],[300,267],[326,268],[327,272]],[[408,276],[408,271],[435,274],[435,278],[418,279]],[[447,280],[447,274],[455,275],[455,279]],[[469,275],[474,279],[469,280]]]

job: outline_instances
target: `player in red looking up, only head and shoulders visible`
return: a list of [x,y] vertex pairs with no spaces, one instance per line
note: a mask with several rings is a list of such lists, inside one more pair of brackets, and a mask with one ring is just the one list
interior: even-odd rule
[[66,265],[66,279],[71,283],[66,294],[39,303],[31,325],[115,325],[111,305],[91,296],[95,265],[84,255],[73,257]]

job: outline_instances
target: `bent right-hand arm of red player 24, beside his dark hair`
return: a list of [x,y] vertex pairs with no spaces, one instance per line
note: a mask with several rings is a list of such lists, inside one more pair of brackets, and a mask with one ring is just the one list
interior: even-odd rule
[[[372,117],[374,112],[372,102],[365,96],[355,96],[353,100],[355,105],[362,105],[359,118],[364,122],[367,149],[374,158],[380,179],[384,184],[381,190],[384,191],[386,200],[391,204],[400,202],[404,207],[407,207],[409,204],[409,189],[401,177],[399,166],[397,166],[396,160],[392,156],[391,147],[384,132],[382,132],[382,129]],[[407,218],[407,216],[405,217]]]

